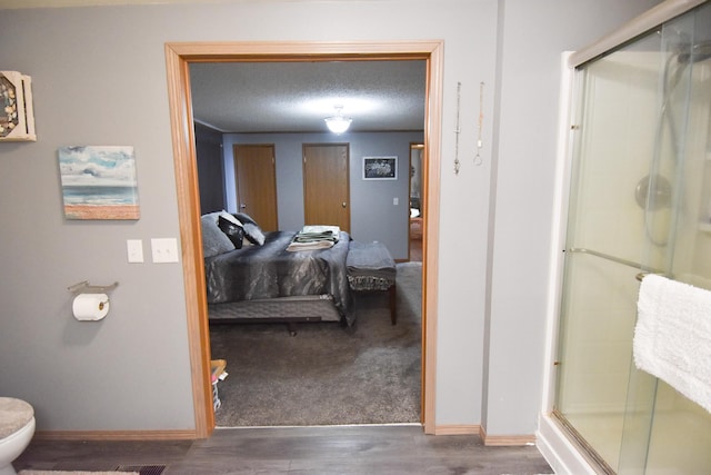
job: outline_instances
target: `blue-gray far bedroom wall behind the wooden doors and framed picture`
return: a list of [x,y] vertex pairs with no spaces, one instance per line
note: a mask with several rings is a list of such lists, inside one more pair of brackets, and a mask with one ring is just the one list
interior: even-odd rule
[[[234,144],[273,144],[277,154],[277,189],[280,229],[303,226],[303,144],[348,144],[350,152],[351,237],[361,243],[383,243],[394,259],[408,259],[410,208],[410,144],[421,142],[422,132],[369,133],[226,133],[224,169],[227,206],[237,210]],[[363,157],[398,157],[397,180],[363,180]],[[393,205],[398,198],[398,205]]]

